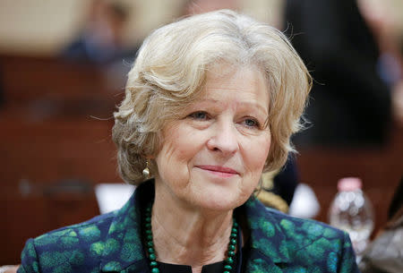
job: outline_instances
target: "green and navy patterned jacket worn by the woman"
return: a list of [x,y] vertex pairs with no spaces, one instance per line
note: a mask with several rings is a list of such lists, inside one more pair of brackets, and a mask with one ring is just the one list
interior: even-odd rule
[[[122,209],[27,241],[19,273],[150,273],[141,243],[141,204],[154,194],[142,183]],[[291,218],[251,198],[236,211],[250,230],[246,272],[359,272],[347,233]]]

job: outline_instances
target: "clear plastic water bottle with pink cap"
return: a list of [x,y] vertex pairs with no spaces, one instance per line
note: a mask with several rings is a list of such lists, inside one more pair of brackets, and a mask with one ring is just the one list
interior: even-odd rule
[[373,206],[362,191],[359,178],[340,179],[338,190],[330,205],[330,225],[347,231],[360,260],[373,232]]

